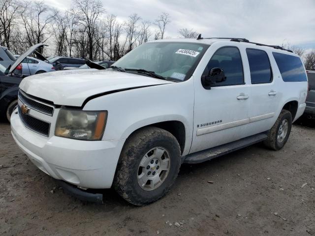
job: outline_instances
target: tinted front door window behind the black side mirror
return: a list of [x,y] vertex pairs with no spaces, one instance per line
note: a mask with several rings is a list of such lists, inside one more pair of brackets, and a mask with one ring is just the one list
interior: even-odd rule
[[223,47],[212,56],[203,75],[209,75],[211,68],[219,67],[224,70],[226,80],[217,86],[242,85],[244,73],[241,54],[236,47]]

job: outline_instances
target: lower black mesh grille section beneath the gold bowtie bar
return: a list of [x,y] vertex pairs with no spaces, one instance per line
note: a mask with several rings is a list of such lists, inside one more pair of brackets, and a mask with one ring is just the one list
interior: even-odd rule
[[43,121],[38,118],[34,118],[30,115],[23,114],[21,112],[20,106],[18,106],[18,109],[19,109],[19,116],[21,120],[23,121],[23,123],[25,124],[25,126],[27,126],[29,129],[31,129],[32,131],[38,134],[49,136],[49,130],[50,130],[49,122]]

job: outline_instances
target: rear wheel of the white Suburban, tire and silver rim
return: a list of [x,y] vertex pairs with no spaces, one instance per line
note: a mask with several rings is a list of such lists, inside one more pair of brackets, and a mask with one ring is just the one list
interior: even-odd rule
[[[285,128],[286,124],[287,127]],[[268,131],[268,138],[264,140],[264,145],[273,150],[280,150],[288,140],[291,128],[292,115],[289,111],[282,110],[275,124]],[[285,130],[286,132],[284,133]]]

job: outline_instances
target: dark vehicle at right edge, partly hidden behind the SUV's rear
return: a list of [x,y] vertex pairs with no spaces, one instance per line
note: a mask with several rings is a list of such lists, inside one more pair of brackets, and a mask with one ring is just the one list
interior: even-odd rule
[[315,119],[315,70],[307,70],[306,72],[309,81],[309,93],[306,98],[306,108],[303,117]]

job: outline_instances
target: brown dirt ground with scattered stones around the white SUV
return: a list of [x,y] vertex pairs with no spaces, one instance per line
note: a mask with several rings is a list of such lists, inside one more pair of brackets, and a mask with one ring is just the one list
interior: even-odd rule
[[15,145],[9,124],[0,123],[3,236],[309,236],[314,188],[315,128],[294,125],[281,151],[257,144],[183,165],[169,194],[150,206],[131,206],[112,189],[104,191],[104,205],[84,203],[38,170]]

